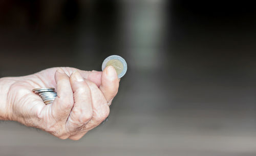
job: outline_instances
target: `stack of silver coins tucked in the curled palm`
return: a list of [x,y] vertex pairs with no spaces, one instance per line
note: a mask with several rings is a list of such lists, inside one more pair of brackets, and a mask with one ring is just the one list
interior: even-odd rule
[[42,101],[44,101],[45,104],[53,103],[54,99],[57,96],[57,93],[54,92],[55,88],[36,88],[32,90],[35,94],[38,94]]

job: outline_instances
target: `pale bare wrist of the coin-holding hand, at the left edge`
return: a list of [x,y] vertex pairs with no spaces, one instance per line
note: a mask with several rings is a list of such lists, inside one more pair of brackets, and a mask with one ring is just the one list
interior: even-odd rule
[[8,103],[7,96],[11,85],[15,82],[14,77],[0,78],[0,120],[10,120],[11,104]]

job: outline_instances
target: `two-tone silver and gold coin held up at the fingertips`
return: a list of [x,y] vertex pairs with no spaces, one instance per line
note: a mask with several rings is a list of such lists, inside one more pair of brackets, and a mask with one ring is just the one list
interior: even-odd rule
[[121,56],[111,55],[107,57],[102,63],[102,71],[109,65],[115,68],[118,78],[123,77],[127,71],[127,63]]

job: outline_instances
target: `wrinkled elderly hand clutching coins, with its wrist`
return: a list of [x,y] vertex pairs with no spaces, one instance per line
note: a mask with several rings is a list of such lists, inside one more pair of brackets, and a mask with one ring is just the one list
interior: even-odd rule
[[[51,68],[23,77],[0,79],[0,119],[78,140],[108,117],[119,79],[113,66],[103,72]],[[46,105],[32,90],[54,87],[57,97]]]

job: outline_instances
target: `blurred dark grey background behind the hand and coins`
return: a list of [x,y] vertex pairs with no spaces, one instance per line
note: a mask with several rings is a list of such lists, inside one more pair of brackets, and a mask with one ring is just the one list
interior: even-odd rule
[[250,2],[1,0],[0,75],[128,70],[109,121],[79,141],[0,122],[0,155],[256,155]]

